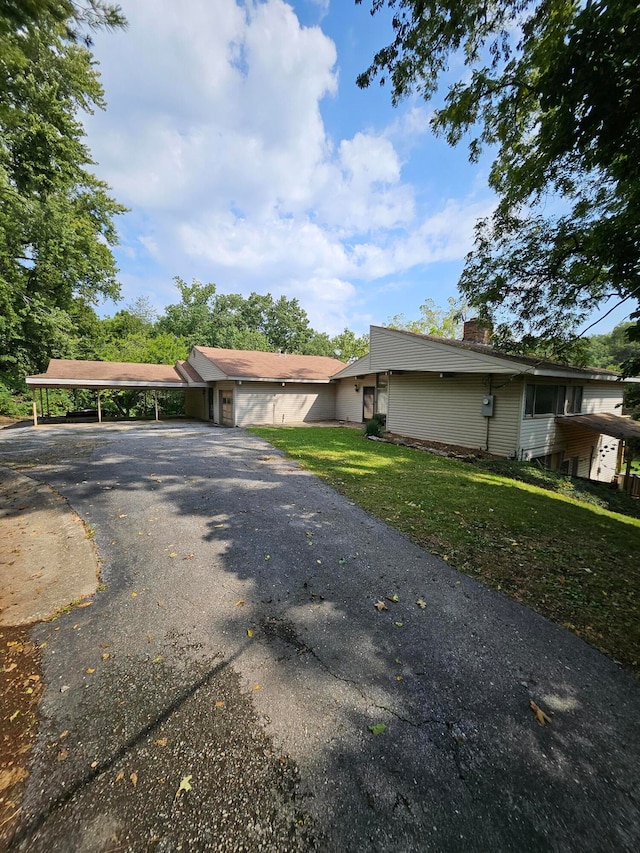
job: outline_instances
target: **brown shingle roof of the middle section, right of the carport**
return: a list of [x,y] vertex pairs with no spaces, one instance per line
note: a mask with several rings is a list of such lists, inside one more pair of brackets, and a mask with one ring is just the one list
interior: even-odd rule
[[344,362],[323,355],[196,347],[227,376],[241,379],[328,381]]

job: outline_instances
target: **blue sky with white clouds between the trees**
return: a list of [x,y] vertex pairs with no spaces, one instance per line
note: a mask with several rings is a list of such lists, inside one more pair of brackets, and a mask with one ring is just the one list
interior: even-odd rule
[[435,138],[432,106],[357,88],[388,19],[366,0],[120,2],[129,28],[94,44],[107,110],[86,122],[130,208],[123,299],[100,313],[162,310],[174,276],[295,297],[329,334],[456,295],[489,163]]

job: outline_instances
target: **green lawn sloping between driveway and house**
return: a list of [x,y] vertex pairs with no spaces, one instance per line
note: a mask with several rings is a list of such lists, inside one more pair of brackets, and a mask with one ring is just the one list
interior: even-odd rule
[[352,429],[252,431],[455,568],[640,671],[640,519],[602,505],[637,516],[638,502],[532,466],[469,464]]

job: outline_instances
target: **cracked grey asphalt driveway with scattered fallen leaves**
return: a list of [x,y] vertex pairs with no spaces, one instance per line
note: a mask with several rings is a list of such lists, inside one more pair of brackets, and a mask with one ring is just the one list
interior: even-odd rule
[[3,459],[90,525],[106,587],[34,629],[16,850],[640,847],[638,683],[265,442],[29,428]]

